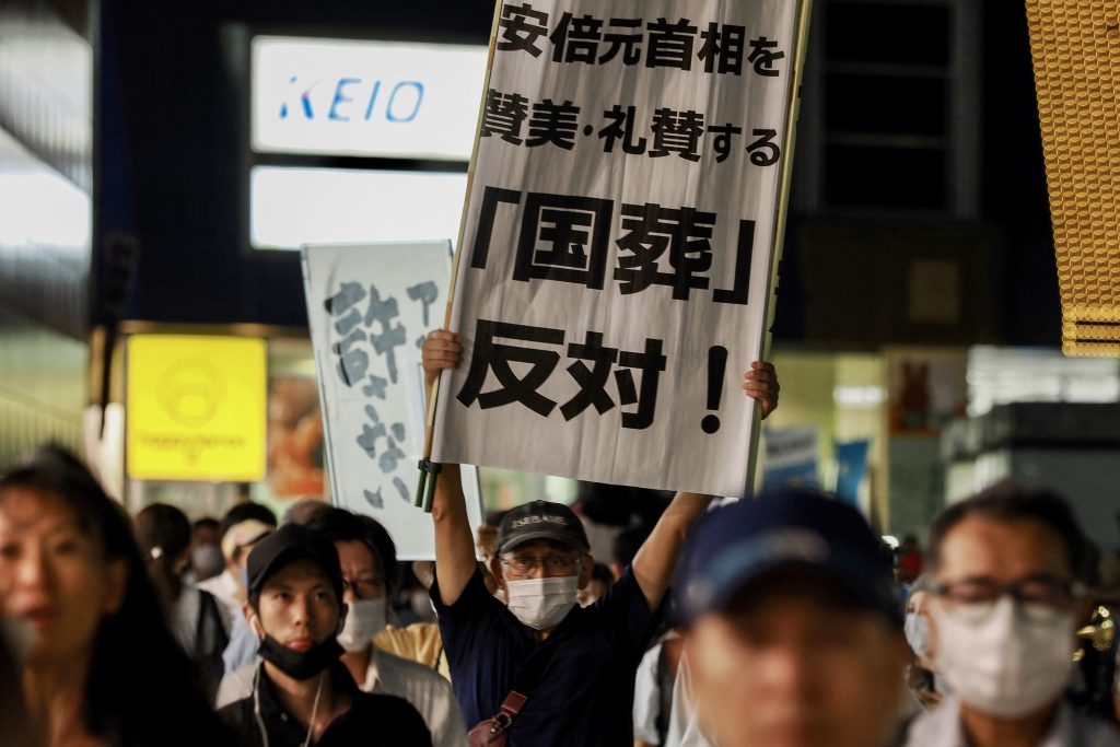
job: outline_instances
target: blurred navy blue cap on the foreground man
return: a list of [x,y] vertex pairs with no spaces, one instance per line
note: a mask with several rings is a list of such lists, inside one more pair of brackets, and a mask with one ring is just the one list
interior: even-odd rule
[[674,623],[719,610],[748,582],[791,566],[820,570],[861,607],[900,620],[890,558],[864,516],[821,493],[783,488],[697,522],[673,579]]

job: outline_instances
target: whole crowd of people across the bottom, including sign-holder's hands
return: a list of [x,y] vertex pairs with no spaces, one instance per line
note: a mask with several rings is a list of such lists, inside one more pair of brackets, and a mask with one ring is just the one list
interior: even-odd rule
[[[744,390],[777,404],[766,364]],[[40,449],[0,477],[0,745],[1120,745],[1120,691],[1071,697],[1101,583],[1057,495],[989,488],[924,553],[810,489],[716,503],[597,485],[474,527],[444,465],[411,568],[316,501],[130,517]]]

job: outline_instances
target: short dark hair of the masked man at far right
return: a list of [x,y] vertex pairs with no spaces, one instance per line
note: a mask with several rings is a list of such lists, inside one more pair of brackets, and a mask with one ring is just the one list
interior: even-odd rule
[[930,564],[934,569],[941,564],[941,543],[945,535],[969,516],[1004,522],[1036,521],[1048,526],[1062,538],[1074,577],[1084,580],[1090,573],[1089,540],[1077,526],[1070,504],[1057,493],[1012,480],[997,483],[971,498],[951,505],[934,519],[928,545]]

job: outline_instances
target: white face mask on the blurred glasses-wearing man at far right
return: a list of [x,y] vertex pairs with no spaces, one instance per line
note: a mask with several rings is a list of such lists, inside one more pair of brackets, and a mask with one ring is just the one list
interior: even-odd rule
[[[967,611],[967,610],[962,610]],[[962,619],[930,606],[937,631],[934,662],[956,697],[1005,719],[1021,718],[1054,700],[1073,667],[1073,613],[1032,614],[1009,596],[982,619]]]

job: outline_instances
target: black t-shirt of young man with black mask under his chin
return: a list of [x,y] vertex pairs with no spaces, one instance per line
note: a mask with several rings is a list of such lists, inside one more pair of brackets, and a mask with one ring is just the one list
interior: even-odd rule
[[[284,710],[263,670],[258,672],[260,719],[253,695],[222,708],[218,716],[241,734],[246,746],[265,744],[261,738],[263,723],[269,747],[302,747],[307,727]],[[349,710],[332,721],[314,743],[316,747],[431,747],[428,727],[407,700],[362,692],[340,663],[332,665],[330,676],[335,692],[348,692],[353,700]]]

